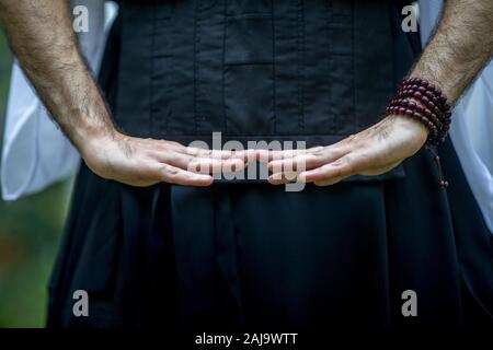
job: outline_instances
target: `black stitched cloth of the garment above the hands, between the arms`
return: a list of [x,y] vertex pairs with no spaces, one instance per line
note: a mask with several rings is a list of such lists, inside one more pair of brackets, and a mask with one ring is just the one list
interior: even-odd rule
[[184,144],[339,141],[378,121],[412,63],[401,2],[122,0],[116,124]]

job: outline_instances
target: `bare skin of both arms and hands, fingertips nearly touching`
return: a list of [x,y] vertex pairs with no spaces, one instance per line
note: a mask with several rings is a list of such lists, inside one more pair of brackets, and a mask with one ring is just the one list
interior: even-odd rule
[[[210,175],[190,170],[202,166],[211,173],[245,165],[245,152],[211,154],[119,132],[81,58],[66,0],[0,0],[0,19],[37,93],[100,176],[135,186],[159,182],[207,186],[213,183]],[[447,0],[438,30],[410,77],[432,81],[455,103],[492,57],[492,34],[493,1]],[[332,145],[297,152],[257,151],[256,155],[276,171],[272,184],[284,184],[294,173],[303,182],[325,186],[354,174],[388,172],[415,154],[427,135],[415,120],[389,116]]]

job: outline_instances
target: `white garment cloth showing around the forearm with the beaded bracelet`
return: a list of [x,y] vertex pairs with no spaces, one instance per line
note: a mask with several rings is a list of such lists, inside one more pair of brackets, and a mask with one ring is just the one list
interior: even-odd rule
[[[427,42],[436,25],[442,5],[442,0],[420,0],[423,44]],[[486,225],[493,233],[492,136],[493,62],[490,62],[456,105],[450,138]]]

